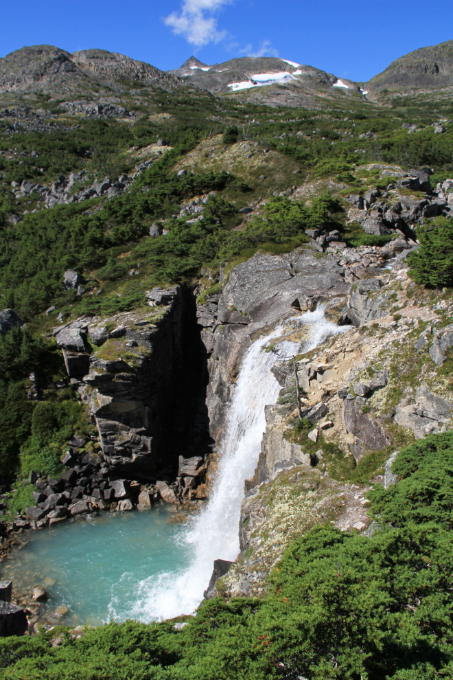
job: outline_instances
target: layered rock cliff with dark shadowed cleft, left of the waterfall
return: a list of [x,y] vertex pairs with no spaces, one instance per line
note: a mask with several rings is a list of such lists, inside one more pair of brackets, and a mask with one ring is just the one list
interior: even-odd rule
[[147,295],[148,311],[83,317],[54,336],[113,472],[170,481],[178,456],[202,439],[203,359],[191,293],[178,286]]

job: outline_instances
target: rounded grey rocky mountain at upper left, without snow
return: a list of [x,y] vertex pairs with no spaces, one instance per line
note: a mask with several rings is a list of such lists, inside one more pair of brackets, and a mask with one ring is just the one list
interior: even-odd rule
[[[181,80],[154,66],[104,49],[86,49],[69,54],[54,45],[22,47],[0,59],[0,95],[8,101],[14,95],[38,92],[51,98],[77,98],[93,92],[111,95],[128,83],[163,89],[179,87]],[[103,92],[103,89],[106,89]]]

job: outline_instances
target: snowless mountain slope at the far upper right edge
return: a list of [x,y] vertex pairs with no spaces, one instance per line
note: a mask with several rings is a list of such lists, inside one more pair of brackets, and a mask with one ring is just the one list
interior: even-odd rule
[[384,91],[417,94],[453,87],[453,40],[421,47],[396,59],[385,71],[367,82],[369,98],[379,99]]

